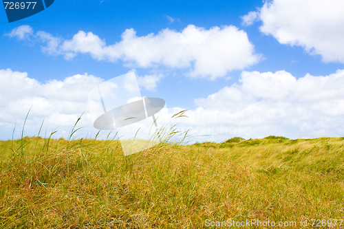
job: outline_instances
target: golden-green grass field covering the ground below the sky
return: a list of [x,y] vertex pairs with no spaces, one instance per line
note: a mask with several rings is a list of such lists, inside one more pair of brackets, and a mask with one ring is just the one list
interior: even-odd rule
[[165,143],[125,157],[115,140],[25,137],[0,150],[0,228],[214,228],[206,220],[251,219],[312,228],[312,219],[344,219],[344,138]]

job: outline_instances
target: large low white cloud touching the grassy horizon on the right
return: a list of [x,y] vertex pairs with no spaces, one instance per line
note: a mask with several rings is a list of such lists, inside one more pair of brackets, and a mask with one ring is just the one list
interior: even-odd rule
[[239,83],[206,98],[180,120],[206,140],[233,136],[316,138],[344,135],[344,70],[329,76],[242,72]]

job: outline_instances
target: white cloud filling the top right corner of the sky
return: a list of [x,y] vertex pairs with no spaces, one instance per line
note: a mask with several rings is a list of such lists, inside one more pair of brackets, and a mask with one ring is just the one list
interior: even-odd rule
[[[260,31],[274,36],[279,43],[298,45],[325,63],[344,63],[344,1],[273,0],[266,1],[256,13],[263,22]],[[243,23],[255,17],[250,12]]]

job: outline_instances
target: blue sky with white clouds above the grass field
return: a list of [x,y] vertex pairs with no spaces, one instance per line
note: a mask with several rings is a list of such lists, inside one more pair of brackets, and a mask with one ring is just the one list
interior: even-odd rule
[[[97,133],[89,91],[134,72],[191,142],[344,136],[344,1],[64,1],[0,9],[0,140]],[[31,109],[30,109],[31,108]],[[42,125],[43,122],[43,125]],[[40,127],[42,130],[39,133]],[[103,131],[100,138],[106,138]]]

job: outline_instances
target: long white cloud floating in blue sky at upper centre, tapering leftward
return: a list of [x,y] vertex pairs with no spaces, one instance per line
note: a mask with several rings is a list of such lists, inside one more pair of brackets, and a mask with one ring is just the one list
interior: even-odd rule
[[136,31],[127,29],[114,45],[107,45],[105,39],[92,32],[79,31],[63,42],[46,32],[37,32],[36,36],[47,42],[43,51],[63,54],[66,59],[89,54],[98,61],[122,60],[134,67],[186,69],[189,76],[209,76],[212,80],[254,65],[262,58],[255,54],[246,32],[233,25],[209,30],[188,25],[181,32],[166,28],[146,36],[136,36]]

